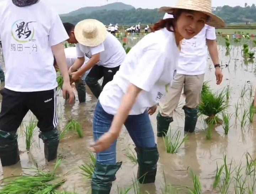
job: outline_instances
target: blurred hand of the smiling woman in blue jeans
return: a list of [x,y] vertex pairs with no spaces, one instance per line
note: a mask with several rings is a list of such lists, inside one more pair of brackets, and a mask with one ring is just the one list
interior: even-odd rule
[[114,141],[117,140],[119,134],[111,132],[111,129],[102,135],[91,147],[94,149],[94,152],[101,152],[107,150]]

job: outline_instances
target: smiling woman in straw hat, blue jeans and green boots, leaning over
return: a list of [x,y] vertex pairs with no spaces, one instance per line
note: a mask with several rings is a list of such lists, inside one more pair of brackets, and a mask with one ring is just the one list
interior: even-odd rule
[[140,183],[154,183],[159,158],[149,115],[166,93],[175,75],[180,41],[191,39],[205,24],[224,26],[211,13],[210,0],[179,0],[175,7],[162,7],[172,19],[161,20],[128,53],[120,70],[102,91],[94,112],[93,132],[97,152],[92,175],[92,194],[109,194],[115,174],[116,143],[126,126],[138,157]]

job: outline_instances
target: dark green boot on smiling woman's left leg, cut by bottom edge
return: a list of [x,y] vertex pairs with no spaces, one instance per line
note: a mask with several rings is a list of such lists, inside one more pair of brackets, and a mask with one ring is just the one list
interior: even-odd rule
[[110,194],[112,182],[116,180],[116,172],[121,165],[122,162],[114,165],[96,162],[91,180],[92,194]]

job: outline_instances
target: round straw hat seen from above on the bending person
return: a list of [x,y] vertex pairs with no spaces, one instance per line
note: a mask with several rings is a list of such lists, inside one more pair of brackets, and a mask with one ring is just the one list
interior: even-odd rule
[[94,19],[80,21],[75,26],[74,32],[76,40],[87,47],[96,47],[107,37],[105,25]]

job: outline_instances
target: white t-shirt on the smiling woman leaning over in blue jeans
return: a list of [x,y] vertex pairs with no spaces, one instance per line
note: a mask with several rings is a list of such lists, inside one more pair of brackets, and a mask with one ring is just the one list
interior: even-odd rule
[[171,84],[179,50],[173,32],[166,28],[146,35],[127,54],[126,59],[99,97],[103,109],[116,114],[130,83],[142,89],[129,115],[144,113],[156,105]]

